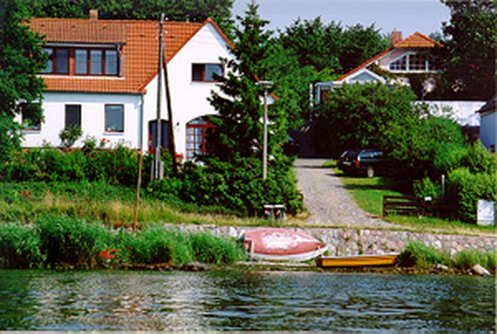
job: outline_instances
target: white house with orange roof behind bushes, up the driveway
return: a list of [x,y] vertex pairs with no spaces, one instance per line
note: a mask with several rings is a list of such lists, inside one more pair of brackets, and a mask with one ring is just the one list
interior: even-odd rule
[[[365,82],[381,82],[381,83],[400,83],[409,84],[409,79],[402,76],[408,73],[436,73],[438,66],[432,57],[432,51],[436,48],[443,47],[437,41],[426,37],[425,35],[415,32],[413,35],[402,39],[402,32],[392,32],[391,47],[379,53],[373,58],[362,63],[358,67],[345,73],[335,81],[318,82],[316,84],[315,102],[319,102],[326,98],[334,87],[339,87],[344,83],[365,83]],[[373,71],[376,67],[381,71],[401,74],[395,79],[388,79],[379,74],[378,71]],[[428,78],[423,83],[423,88],[426,93],[433,90],[436,83],[433,79]],[[440,113],[445,107],[452,108],[452,118],[463,126],[479,126],[480,117],[475,114],[475,110],[485,104],[485,101],[423,101],[430,106],[435,106],[435,110]]]

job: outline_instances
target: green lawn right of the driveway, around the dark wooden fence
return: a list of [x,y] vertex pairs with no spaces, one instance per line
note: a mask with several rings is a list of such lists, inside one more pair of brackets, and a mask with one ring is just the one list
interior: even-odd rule
[[[383,196],[412,196],[399,182],[387,177],[351,177],[345,176],[336,167],[335,161],[327,161],[324,167],[334,170],[347,191],[363,210],[377,216],[382,215]],[[401,225],[402,228],[419,232],[459,233],[459,234],[495,234],[495,227],[483,227],[460,221],[435,217],[415,217],[388,215],[384,220]]]

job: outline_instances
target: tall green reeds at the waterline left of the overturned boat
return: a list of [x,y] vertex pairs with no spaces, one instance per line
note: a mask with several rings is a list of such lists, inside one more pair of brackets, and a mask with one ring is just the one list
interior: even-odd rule
[[46,216],[0,225],[0,267],[95,268],[137,264],[228,264],[245,258],[233,238],[150,224],[136,235],[99,223]]

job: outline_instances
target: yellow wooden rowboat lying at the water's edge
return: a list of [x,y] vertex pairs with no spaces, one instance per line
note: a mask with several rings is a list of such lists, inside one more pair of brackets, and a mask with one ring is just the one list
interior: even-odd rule
[[319,267],[363,267],[363,266],[393,266],[399,253],[381,255],[352,255],[337,257],[322,257],[316,259]]

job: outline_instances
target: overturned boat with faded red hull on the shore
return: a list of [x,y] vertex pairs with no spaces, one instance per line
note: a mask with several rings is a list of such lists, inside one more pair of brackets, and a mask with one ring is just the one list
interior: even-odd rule
[[284,228],[261,228],[242,237],[250,257],[268,261],[305,261],[328,249],[319,240]]

